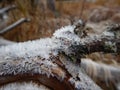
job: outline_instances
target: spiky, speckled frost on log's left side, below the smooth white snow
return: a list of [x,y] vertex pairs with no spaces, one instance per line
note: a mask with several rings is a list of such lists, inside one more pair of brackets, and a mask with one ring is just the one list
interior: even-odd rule
[[[38,61],[36,61],[38,60]],[[48,60],[34,58],[30,60],[7,61],[0,63],[0,75],[22,74],[22,73],[39,73],[52,76],[52,69],[57,68],[56,64]],[[64,76],[63,76],[64,77]]]

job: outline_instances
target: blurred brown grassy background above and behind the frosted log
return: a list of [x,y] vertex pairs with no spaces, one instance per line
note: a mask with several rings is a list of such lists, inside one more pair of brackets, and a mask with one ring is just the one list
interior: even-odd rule
[[51,36],[56,29],[77,19],[120,22],[120,0],[0,0],[0,8],[10,5],[16,8],[9,11],[0,28],[22,17],[31,20],[3,34],[6,39],[17,42]]

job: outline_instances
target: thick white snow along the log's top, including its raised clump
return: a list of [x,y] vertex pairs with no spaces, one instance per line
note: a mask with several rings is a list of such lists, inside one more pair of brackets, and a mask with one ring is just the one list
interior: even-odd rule
[[[73,26],[66,26],[57,30],[52,38],[2,46],[0,48],[0,60],[5,61],[13,58],[28,58],[35,56],[48,59],[50,53],[57,55],[58,49],[67,47],[67,45],[65,45],[67,41],[70,42],[69,44],[80,41],[80,38],[74,34],[73,29]],[[66,42],[63,42],[63,40],[57,38],[66,39]]]

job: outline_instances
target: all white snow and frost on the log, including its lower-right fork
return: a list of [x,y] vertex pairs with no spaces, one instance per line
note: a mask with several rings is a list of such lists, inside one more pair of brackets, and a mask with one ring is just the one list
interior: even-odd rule
[[[93,39],[95,38],[93,37]],[[89,37],[81,40],[74,33],[74,26],[66,26],[58,29],[51,38],[2,46],[0,48],[0,75],[39,73],[46,74],[48,77],[54,77],[52,70],[57,68],[58,65],[54,63],[54,59],[50,58],[51,55],[57,57],[60,52],[70,55],[74,53],[69,49],[71,45],[84,44],[84,42],[88,41]],[[82,72],[79,65],[71,63],[68,59],[61,60],[61,62],[63,62],[65,68],[72,75],[69,81],[71,83],[73,81],[77,89],[100,90]],[[65,78],[65,74],[62,74],[61,77]],[[77,77],[80,80],[77,80]]]

